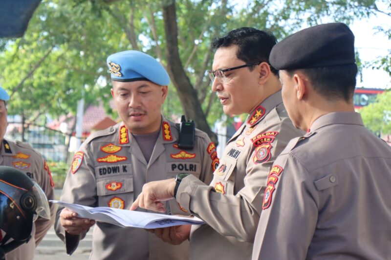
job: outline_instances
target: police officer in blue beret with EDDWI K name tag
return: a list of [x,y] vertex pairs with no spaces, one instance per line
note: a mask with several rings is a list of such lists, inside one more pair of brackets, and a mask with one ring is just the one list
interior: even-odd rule
[[[212,162],[218,160],[209,137],[195,130],[193,148],[178,142],[179,128],[161,116],[169,76],[151,56],[124,51],[107,59],[113,88],[111,95],[123,120],[91,134],[75,154],[61,200],[87,206],[128,209],[144,183],[173,178],[188,172],[200,181],[212,180]],[[207,152],[207,148],[210,152]],[[175,200],[170,214],[189,215]],[[77,247],[94,221],[59,209],[56,232],[68,254]],[[163,243],[144,229],[96,223],[90,259],[187,259],[188,244]]]

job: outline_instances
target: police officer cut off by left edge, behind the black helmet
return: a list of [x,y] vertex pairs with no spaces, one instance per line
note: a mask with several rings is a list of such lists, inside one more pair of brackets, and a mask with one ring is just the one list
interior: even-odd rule
[[[8,125],[6,107],[6,101],[8,100],[9,96],[7,92],[0,87],[0,165],[10,166],[22,171],[42,187],[49,200],[53,200],[54,183],[49,167],[43,157],[26,143],[4,139]],[[34,222],[32,228],[34,239],[29,240],[28,243],[8,253],[6,260],[33,259],[35,247],[53,224],[54,205],[50,206],[50,212],[53,218],[38,218]]]

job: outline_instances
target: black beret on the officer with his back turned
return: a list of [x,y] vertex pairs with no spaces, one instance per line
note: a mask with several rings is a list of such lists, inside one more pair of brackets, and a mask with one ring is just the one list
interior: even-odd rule
[[354,35],[341,22],[312,26],[274,45],[269,61],[278,70],[351,64]]

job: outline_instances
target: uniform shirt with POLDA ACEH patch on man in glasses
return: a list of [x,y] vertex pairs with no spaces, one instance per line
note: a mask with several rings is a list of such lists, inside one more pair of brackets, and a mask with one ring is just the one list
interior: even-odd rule
[[270,167],[302,133],[288,118],[281,91],[264,100],[228,141],[207,186],[186,177],[177,201],[207,224],[193,226],[191,259],[250,259]]

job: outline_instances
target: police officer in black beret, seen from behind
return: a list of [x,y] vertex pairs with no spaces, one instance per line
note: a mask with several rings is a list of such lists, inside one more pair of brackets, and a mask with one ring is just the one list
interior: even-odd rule
[[354,36],[299,31],[270,54],[301,129],[269,173],[253,259],[391,259],[391,147],[354,112]]

